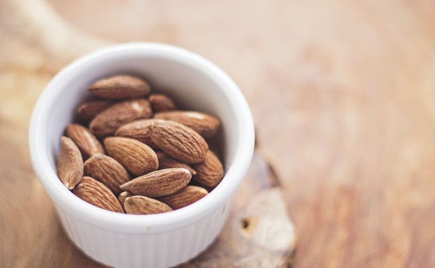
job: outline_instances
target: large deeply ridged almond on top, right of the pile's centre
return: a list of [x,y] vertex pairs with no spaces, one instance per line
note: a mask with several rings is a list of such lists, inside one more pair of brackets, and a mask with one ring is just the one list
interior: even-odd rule
[[151,139],[170,157],[187,164],[199,163],[206,157],[208,144],[190,127],[167,120],[155,120],[149,126]]

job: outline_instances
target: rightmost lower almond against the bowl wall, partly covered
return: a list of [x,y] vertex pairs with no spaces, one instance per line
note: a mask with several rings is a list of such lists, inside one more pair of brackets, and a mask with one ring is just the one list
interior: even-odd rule
[[194,180],[208,187],[216,186],[224,177],[222,163],[211,150],[207,151],[204,161],[194,165],[194,169],[197,171]]

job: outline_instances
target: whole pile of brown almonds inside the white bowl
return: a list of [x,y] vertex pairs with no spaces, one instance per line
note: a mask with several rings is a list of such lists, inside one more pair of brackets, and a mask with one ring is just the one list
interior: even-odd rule
[[209,149],[214,116],[178,110],[139,77],[115,75],[88,88],[79,123],[61,137],[57,171],[73,193],[105,210],[156,214],[203,198],[224,171]]

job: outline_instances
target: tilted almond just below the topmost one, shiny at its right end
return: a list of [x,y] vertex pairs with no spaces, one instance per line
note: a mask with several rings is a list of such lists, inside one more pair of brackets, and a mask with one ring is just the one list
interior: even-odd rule
[[114,134],[116,129],[140,118],[149,118],[152,115],[148,100],[126,100],[105,109],[91,120],[89,129],[98,136],[104,137]]

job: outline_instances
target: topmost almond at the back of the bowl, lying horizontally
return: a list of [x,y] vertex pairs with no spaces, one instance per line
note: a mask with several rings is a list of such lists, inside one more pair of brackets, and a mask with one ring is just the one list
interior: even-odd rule
[[98,80],[89,86],[89,92],[97,97],[110,100],[144,97],[151,91],[149,84],[131,75],[116,75]]

